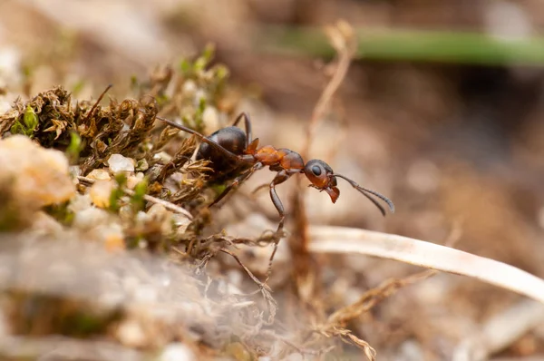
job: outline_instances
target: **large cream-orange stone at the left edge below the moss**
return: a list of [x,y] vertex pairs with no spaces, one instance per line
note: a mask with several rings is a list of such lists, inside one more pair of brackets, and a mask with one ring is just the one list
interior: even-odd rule
[[75,194],[62,151],[45,149],[24,135],[0,141],[0,181],[13,186],[14,198],[39,209]]

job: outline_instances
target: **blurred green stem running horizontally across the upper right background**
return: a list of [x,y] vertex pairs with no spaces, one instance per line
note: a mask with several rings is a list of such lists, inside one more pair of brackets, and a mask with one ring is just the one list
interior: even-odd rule
[[[272,52],[332,57],[320,28],[266,27],[256,46]],[[357,30],[357,58],[477,64],[544,64],[544,37],[500,38],[488,34],[439,31]],[[263,45],[264,44],[264,45]]]

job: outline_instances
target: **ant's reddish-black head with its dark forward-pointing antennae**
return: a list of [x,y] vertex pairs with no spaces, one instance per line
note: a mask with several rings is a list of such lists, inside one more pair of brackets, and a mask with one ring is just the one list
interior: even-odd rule
[[349,184],[352,185],[352,187],[355,188],[355,190],[358,190],[364,195],[364,197],[372,201],[374,203],[374,206],[376,206],[383,215],[385,215],[384,207],[382,207],[382,205],[378,203],[377,200],[375,200],[372,196],[383,200],[389,207],[389,210],[394,213],[394,205],[391,200],[375,190],[368,190],[364,187],[361,187],[360,185],[355,183],[355,181],[350,180],[342,174],[335,173],[333,169],[327,163],[325,163],[325,161],[308,161],[306,163],[306,166],[304,167],[304,173],[306,174],[306,178],[312,182],[312,184],[310,184],[310,187],[314,187],[317,190],[325,190],[331,197],[333,203],[335,203],[335,201],[340,196],[340,190],[338,190],[338,188],[336,187],[336,177],[338,177],[347,181]]

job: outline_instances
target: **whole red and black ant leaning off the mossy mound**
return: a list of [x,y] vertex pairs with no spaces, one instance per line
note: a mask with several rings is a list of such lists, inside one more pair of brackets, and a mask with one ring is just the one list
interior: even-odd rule
[[[389,210],[392,213],[394,212],[393,202],[387,197],[377,191],[361,187],[354,180],[350,180],[342,174],[335,173],[325,161],[311,160],[305,164],[300,154],[296,151],[286,148],[276,149],[271,145],[258,148],[258,138],[252,139],[251,121],[246,112],[240,113],[231,126],[221,128],[213,132],[209,137],[160,116],[156,118],[161,122],[165,122],[183,132],[194,134],[199,138],[201,143],[197,152],[197,159],[211,161],[216,180],[234,178],[228,187],[219,194],[218,198],[209,204],[209,207],[222,200],[230,190],[237,188],[243,181],[248,180],[255,171],[266,166],[268,166],[270,171],[277,171],[276,177],[270,182],[269,187],[270,198],[280,217],[276,231],[278,237],[281,237],[282,234],[286,212],[281,200],[277,196],[276,186],[288,180],[296,173],[304,173],[306,175],[306,178],[311,182],[309,187],[316,188],[319,191],[325,190],[333,203],[340,196],[340,190],[338,190],[336,183],[336,177],[338,177],[346,180],[355,190],[358,190],[364,197],[371,200],[384,216],[384,207],[377,200],[374,200],[372,196],[383,200],[389,207]],[[246,132],[243,132],[237,126],[238,122],[242,119],[245,123]]]

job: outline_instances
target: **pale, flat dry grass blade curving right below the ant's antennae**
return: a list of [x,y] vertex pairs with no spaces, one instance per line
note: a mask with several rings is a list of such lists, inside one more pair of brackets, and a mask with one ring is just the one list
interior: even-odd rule
[[359,253],[400,260],[416,266],[477,278],[544,303],[544,279],[493,259],[420,239],[364,229],[314,226],[310,228],[310,234],[312,242],[309,248],[312,252]]

